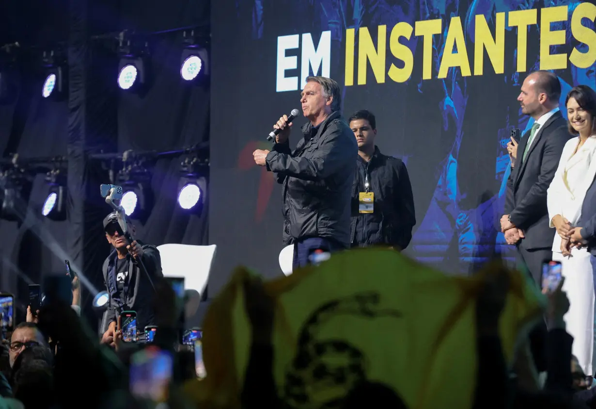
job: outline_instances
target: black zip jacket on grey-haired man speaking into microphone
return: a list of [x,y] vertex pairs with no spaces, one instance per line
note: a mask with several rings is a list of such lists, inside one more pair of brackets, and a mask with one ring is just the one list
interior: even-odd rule
[[339,112],[318,127],[302,127],[304,137],[293,152],[276,143],[267,170],[283,184],[284,244],[309,237],[350,245],[350,196],[358,146]]

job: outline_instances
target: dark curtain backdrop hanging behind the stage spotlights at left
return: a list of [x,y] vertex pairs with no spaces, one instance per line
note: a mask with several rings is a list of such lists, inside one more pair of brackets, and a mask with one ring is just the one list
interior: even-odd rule
[[[110,249],[101,219],[110,208],[98,184],[109,183],[109,164],[89,160],[90,154],[161,152],[209,140],[209,86],[182,84],[182,33],[148,36],[153,75],[144,96],[118,89],[115,42],[104,35],[120,30],[149,34],[191,25],[209,32],[209,21],[208,1],[0,3],[0,47],[21,45],[18,99],[0,105],[0,149],[5,158],[10,153],[22,159],[69,158],[70,221],[53,222],[41,215],[48,194],[44,174],[35,178],[24,221],[0,221],[0,289],[17,294],[17,322],[24,319],[26,285],[41,284],[42,276],[63,271],[64,259],[70,259],[90,284],[103,287],[101,262]],[[45,75],[40,63],[42,50],[58,45],[69,54],[71,95],[70,100],[54,102],[41,97]],[[208,207],[190,215],[176,203],[181,159],[160,159],[150,167],[155,204],[146,221],[135,221],[138,238],[149,244],[207,244]],[[86,307],[92,296],[92,291],[83,293]]]

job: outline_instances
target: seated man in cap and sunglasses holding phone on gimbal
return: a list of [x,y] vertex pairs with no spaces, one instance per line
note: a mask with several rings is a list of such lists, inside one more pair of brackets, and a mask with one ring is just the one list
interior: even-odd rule
[[[135,226],[128,221],[126,226],[134,237]],[[142,332],[145,326],[155,324],[155,290],[152,281],[163,277],[162,260],[159,250],[153,245],[144,244],[139,240],[129,244],[120,227],[116,211],[105,217],[104,230],[105,238],[113,245],[114,250],[105,259],[102,269],[109,296],[106,319],[110,325],[101,342],[113,345],[119,312],[135,311],[138,331]]]

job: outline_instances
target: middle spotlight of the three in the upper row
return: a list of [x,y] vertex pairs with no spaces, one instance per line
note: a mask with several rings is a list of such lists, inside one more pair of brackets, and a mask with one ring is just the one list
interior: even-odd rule
[[[144,44],[143,47],[136,47],[135,44]],[[118,64],[118,87],[121,90],[130,92],[142,92],[147,90],[147,43],[139,38],[131,38],[126,32],[120,34],[120,63]]]

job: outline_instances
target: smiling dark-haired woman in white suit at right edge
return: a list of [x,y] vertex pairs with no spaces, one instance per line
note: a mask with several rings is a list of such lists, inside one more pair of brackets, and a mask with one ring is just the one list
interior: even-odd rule
[[[569,132],[577,135],[563,153],[547,191],[548,216],[557,229],[552,244],[552,260],[561,262],[565,279],[563,291],[570,300],[564,319],[573,336],[573,355],[586,374],[594,374],[594,267],[591,246],[584,245],[581,230],[590,217],[588,192],[596,175],[596,93],[586,85],[573,88],[565,100]],[[579,238],[576,235],[578,232]]]

